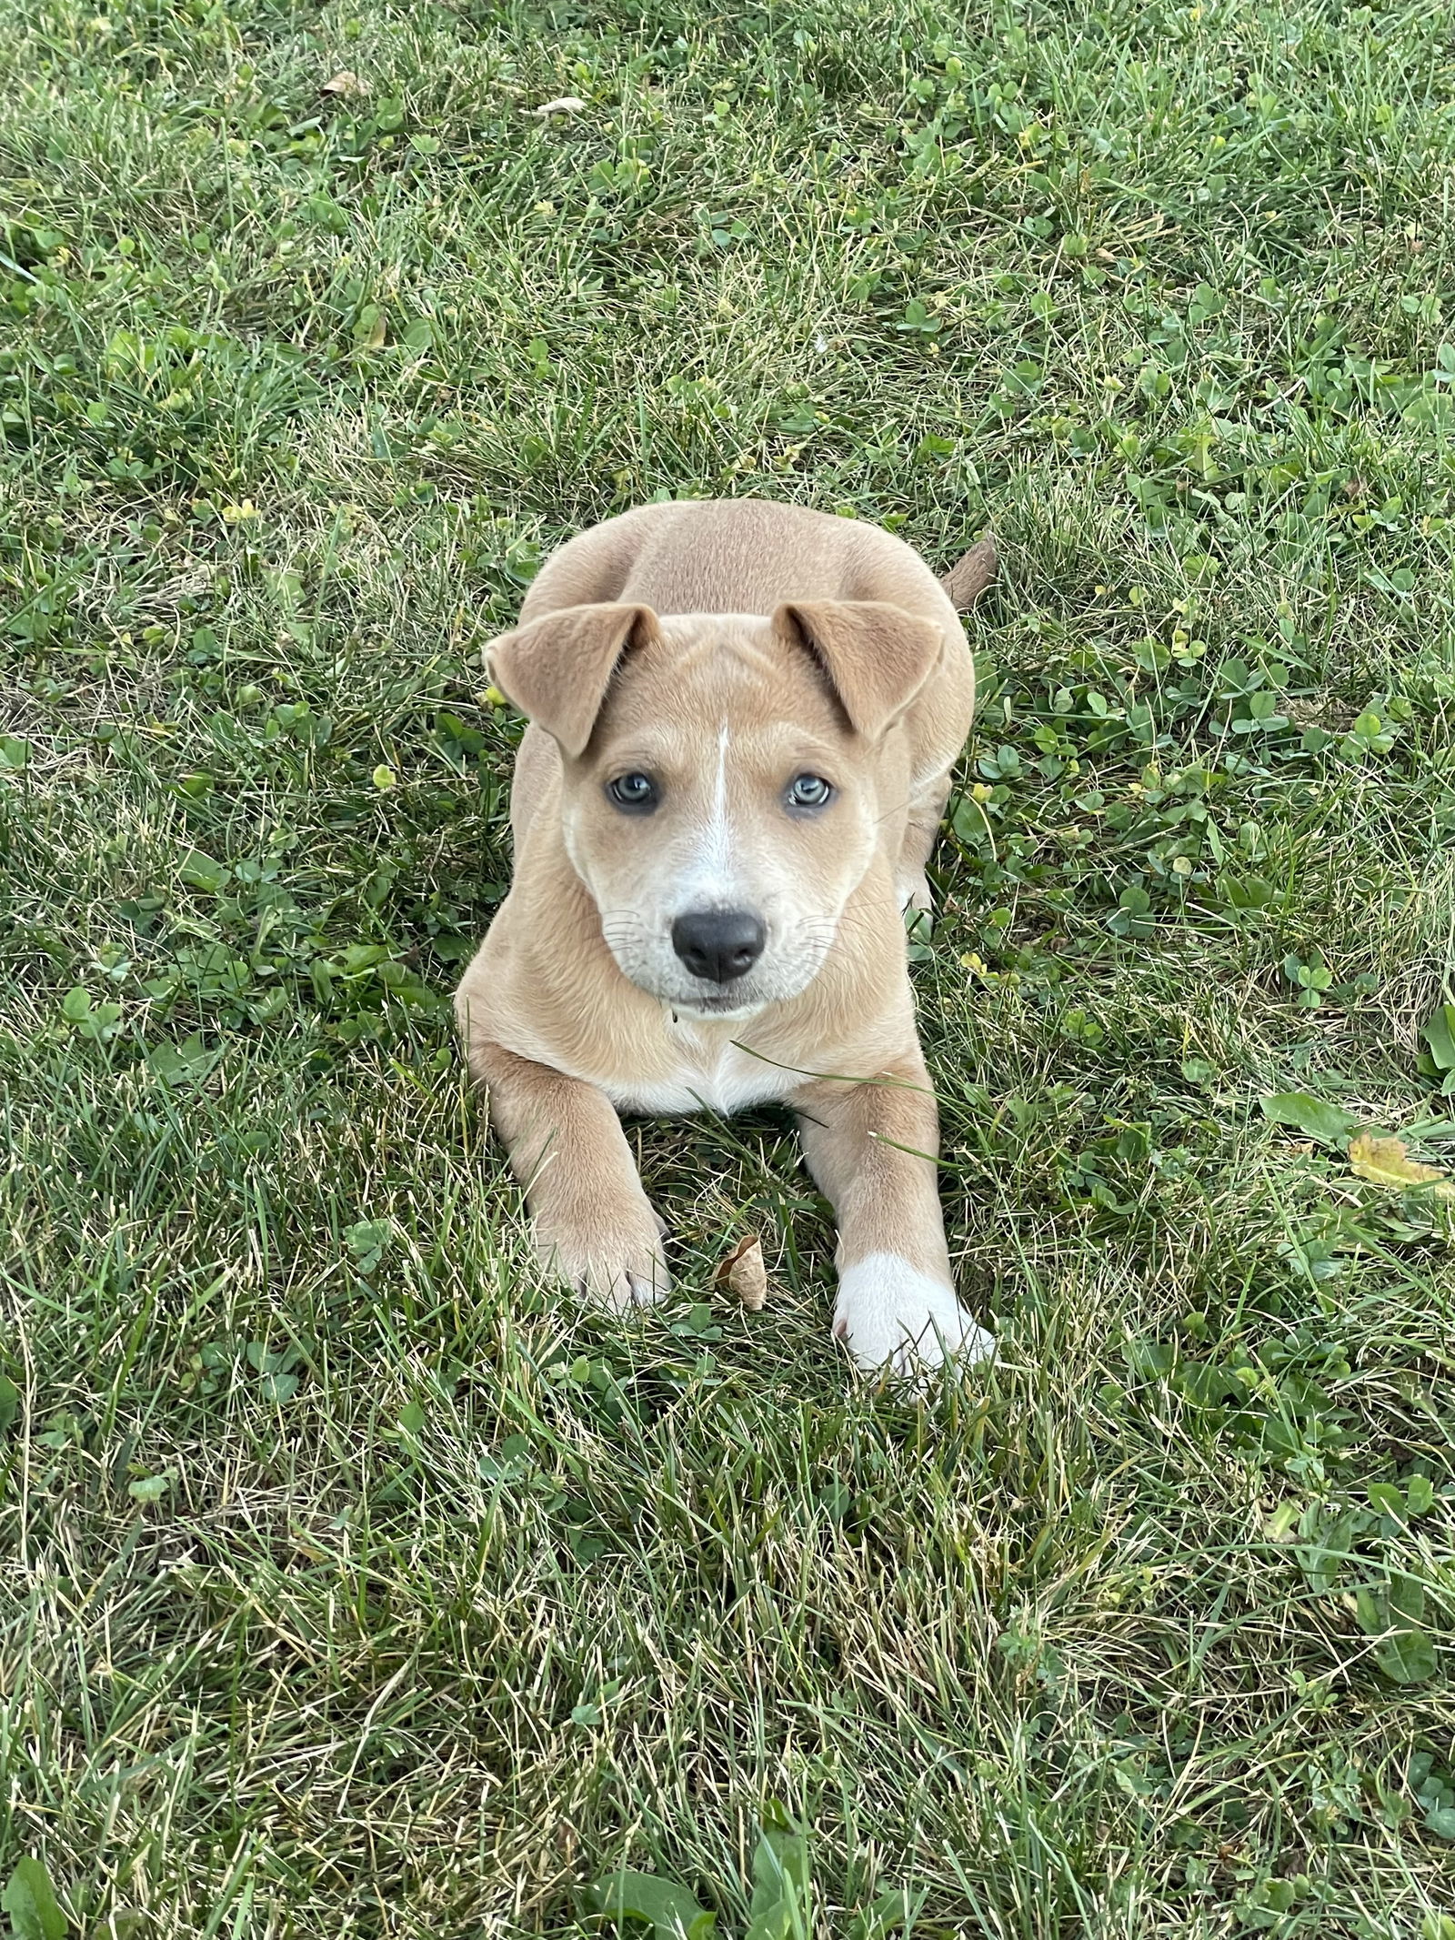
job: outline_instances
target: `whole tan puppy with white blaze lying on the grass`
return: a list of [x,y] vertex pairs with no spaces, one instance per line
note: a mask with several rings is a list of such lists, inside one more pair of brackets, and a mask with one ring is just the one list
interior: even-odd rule
[[456,993],[541,1259],[627,1306],[667,1286],[617,1112],[795,1112],[838,1214],[834,1335],[908,1372],[993,1342],[954,1298],[939,1116],[902,910],[970,729],[945,584],[873,526],[654,504],[555,553],[487,648],[530,716],[516,873]]

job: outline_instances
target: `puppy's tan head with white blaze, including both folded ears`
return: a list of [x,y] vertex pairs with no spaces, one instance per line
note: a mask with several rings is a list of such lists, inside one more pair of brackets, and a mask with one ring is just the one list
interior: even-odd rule
[[493,642],[561,749],[566,854],[632,984],[733,1018],[813,980],[902,809],[879,757],[939,652],[933,621],[871,601],[582,605]]

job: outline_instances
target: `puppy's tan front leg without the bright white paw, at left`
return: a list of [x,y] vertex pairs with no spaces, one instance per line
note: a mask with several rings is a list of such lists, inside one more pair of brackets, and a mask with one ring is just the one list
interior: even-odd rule
[[669,1280],[658,1218],[611,1100],[499,1044],[475,1042],[469,1067],[526,1187],[543,1265],[605,1306],[660,1300]]

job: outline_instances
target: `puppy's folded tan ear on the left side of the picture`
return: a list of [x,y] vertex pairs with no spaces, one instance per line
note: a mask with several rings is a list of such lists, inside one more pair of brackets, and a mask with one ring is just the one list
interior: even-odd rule
[[491,679],[572,760],[586,749],[623,654],[658,638],[652,607],[561,607],[485,648]]

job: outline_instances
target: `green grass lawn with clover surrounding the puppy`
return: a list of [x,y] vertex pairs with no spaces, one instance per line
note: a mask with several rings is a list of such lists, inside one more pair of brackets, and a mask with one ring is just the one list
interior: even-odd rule
[[[16,1934],[1451,1940],[1447,12],[0,16]],[[925,1410],[774,1117],[570,1311],[450,1034],[477,650],[689,493],[999,535]]]

